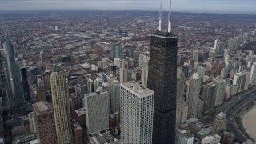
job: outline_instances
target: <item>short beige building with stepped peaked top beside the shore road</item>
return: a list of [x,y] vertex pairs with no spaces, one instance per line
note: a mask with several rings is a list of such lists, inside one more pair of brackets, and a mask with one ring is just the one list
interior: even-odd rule
[[216,118],[214,120],[213,124],[213,132],[212,134],[219,134],[222,131],[226,130],[226,114],[220,112],[218,115],[216,115]]

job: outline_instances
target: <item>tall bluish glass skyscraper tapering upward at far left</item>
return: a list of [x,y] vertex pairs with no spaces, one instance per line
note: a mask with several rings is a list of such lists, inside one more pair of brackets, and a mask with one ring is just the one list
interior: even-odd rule
[[6,65],[6,94],[11,114],[18,114],[25,109],[25,98],[22,89],[21,74],[14,57],[14,48],[7,38],[3,44]]

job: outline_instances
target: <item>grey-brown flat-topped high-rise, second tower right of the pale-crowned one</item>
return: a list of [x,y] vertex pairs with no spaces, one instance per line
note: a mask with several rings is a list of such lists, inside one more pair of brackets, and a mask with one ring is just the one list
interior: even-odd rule
[[216,96],[216,85],[214,83],[208,83],[203,86],[202,90],[202,101],[204,102],[203,111],[204,113],[210,112],[215,106]]

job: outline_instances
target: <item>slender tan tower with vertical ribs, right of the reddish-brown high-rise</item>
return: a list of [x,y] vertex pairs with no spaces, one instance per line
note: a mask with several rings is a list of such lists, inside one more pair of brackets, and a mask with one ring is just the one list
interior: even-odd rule
[[72,143],[70,124],[70,103],[65,72],[61,66],[54,66],[50,76],[51,94],[58,144]]

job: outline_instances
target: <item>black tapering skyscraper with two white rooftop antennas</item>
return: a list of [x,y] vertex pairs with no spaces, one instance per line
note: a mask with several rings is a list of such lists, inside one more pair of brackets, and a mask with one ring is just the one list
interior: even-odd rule
[[[171,7],[171,2],[170,2]],[[170,10],[171,11],[171,10]],[[170,11],[168,31],[159,30],[151,35],[148,88],[154,91],[153,143],[175,143],[177,41],[171,32]]]

